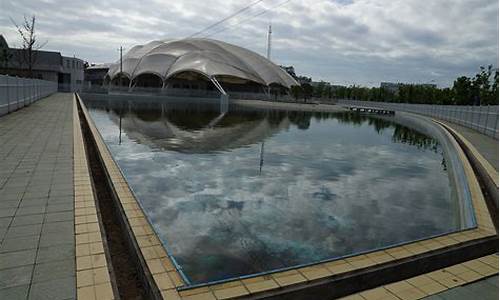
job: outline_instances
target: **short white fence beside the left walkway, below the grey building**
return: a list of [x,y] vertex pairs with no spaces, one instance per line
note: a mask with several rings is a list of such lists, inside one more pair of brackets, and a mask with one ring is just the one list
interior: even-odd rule
[[0,116],[57,92],[57,82],[0,75]]

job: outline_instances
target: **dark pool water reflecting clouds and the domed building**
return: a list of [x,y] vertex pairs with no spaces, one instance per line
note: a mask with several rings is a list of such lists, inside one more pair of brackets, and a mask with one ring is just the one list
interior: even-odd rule
[[86,104],[193,283],[460,225],[439,143],[390,118],[234,106],[221,115],[204,103]]

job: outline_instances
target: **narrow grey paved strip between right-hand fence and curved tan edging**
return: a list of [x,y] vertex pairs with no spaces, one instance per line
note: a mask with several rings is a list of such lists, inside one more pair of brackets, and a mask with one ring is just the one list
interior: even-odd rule
[[487,135],[481,134],[476,130],[451,123],[445,122],[453,129],[462,134],[469,142],[476,147],[477,151],[498,171],[498,141]]

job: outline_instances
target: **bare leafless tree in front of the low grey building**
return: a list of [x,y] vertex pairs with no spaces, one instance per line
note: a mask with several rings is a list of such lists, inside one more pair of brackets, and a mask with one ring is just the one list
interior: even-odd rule
[[24,21],[21,25],[18,25],[12,19],[11,21],[21,36],[21,67],[26,64],[28,67],[28,76],[33,78],[33,66],[35,65],[37,59],[36,51],[45,46],[47,42],[42,44],[38,43],[37,36],[35,34],[36,17],[34,15],[29,18],[24,16]]

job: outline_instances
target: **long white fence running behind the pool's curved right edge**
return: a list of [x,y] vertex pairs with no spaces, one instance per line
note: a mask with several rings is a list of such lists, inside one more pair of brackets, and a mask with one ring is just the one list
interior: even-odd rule
[[358,100],[338,100],[338,103],[422,114],[474,129],[498,140],[498,105],[432,105]]

